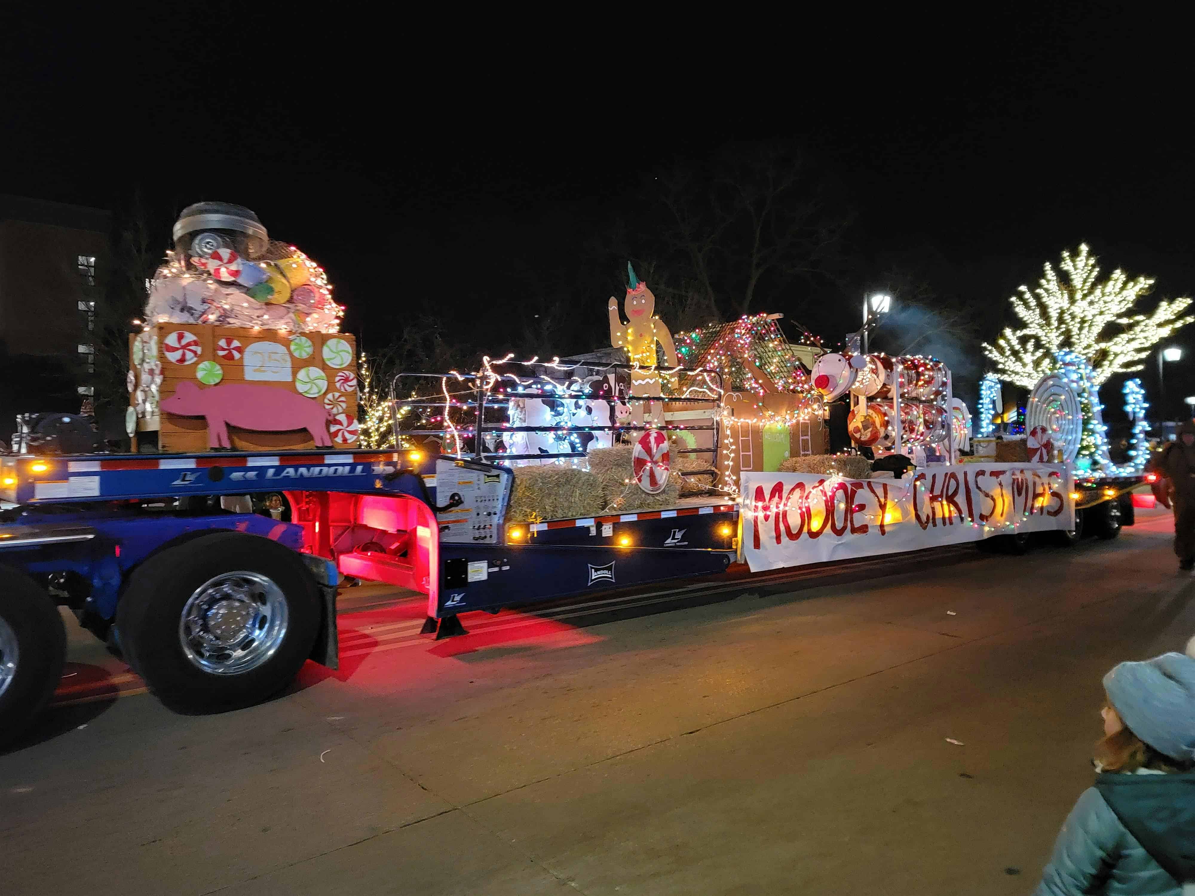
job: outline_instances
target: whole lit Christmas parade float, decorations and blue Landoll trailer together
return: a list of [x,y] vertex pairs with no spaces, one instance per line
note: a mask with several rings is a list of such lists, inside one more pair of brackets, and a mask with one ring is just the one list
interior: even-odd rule
[[[1108,462],[1081,358],[1037,382],[1022,460],[968,458],[937,360],[839,354],[807,370],[770,315],[678,346],[633,276],[625,323],[608,308],[624,354],[402,374],[396,448],[361,450],[355,346],[318,266],[237,207],[191,207],[174,237],[130,340],[129,429],[160,453],[0,458],[16,505],[0,518],[0,631],[20,661],[0,668],[0,739],[54,688],[59,603],[167,704],[223,710],[308,659],[336,667],[342,576],[422,595],[439,639],[466,634],[471,610],[615,588],[655,602],[643,591],[678,578],[672,594],[736,588],[731,563],[747,576],[995,538],[1023,550],[1132,522],[1140,475]],[[817,454],[802,424],[833,400],[852,403],[857,450]]]

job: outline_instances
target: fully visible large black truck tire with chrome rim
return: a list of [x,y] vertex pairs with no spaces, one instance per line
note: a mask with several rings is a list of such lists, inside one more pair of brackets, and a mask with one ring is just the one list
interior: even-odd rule
[[319,587],[282,545],[206,535],[142,563],[116,610],[121,646],[180,712],[251,706],[289,685],[319,630]]

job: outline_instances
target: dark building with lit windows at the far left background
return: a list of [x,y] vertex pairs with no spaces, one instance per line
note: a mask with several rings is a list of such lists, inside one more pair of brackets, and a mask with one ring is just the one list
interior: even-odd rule
[[0,195],[0,438],[16,413],[78,412],[111,213]]

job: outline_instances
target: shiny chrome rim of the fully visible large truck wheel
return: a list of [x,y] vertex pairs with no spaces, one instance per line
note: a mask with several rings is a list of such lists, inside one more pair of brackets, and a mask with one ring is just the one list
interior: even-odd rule
[[258,572],[225,572],[195,589],[183,606],[178,638],[186,658],[213,675],[262,665],[287,634],[287,599]]

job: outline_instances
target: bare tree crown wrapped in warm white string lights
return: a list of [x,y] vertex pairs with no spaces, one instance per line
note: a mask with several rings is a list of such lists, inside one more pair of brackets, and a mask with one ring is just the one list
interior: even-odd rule
[[1059,271],[1047,263],[1036,289],[1021,287],[1021,295],[1009,300],[1024,326],[1005,327],[995,345],[983,343],[983,351],[1001,380],[1025,388],[1055,369],[1055,352],[1073,351],[1091,364],[1099,386],[1115,374],[1140,370],[1154,345],[1195,320],[1179,317],[1190,299],[1163,299],[1152,314],[1134,314],[1152,288],[1153,277],[1129,280],[1120,268],[1101,280],[1086,245],[1074,254],[1062,252]]

